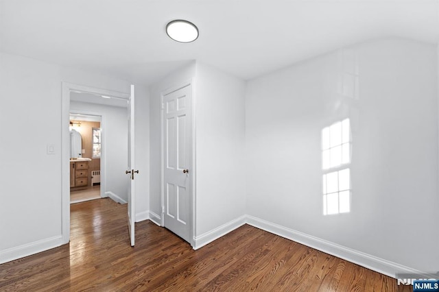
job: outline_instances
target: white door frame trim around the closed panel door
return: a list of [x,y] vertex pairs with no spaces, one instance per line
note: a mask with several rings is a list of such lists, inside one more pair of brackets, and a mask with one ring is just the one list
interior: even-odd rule
[[165,155],[164,138],[165,137],[163,136],[163,131],[165,130],[165,127],[163,124],[163,117],[164,117],[165,108],[163,106],[163,101],[164,101],[165,95],[169,95],[170,93],[174,93],[175,91],[180,90],[181,88],[191,86],[191,115],[192,115],[192,117],[191,117],[191,137],[189,138],[189,141],[191,143],[191,145],[190,145],[190,147],[191,147],[190,156],[191,157],[189,157],[189,161],[190,161],[191,165],[189,165],[188,168],[191,169],[191,175],[190,175],[191,180],[189,181],[189,188],[190,188],[189,193],[191,194],[190,198],[189,198],[189,200],[190,200],[190,202],[189,202],[190,215],[189,216],[191,218],[191,223],[190,223],[190,226],[191,226],[190,240],[191,240],[191,242],[190,242],[190,244],[192,247],[195,247],[195,234],[196,234],[196,224],[195,224],[195,222],[196,222],[196,216],[195,216],[195,214],[196,214],[196,212],[195,212],[195,210],[196,210],[196,204],[195,204],[196,203],[196,188],[195,188],[195,186],[196,186],[196,184],[195,184],[195,182],[196,182],[196,163],[195,163],[196,162],[195,161],[196,149],[195,149],[195,145],[196,144],[195,144],[195,136],[196,135],[195,135],[195,102],[194,102],[195,101],[195,90],[194,90],[195,86],[194,86],[194,83],[195,83],[195,78],[191,78],[190,80],[187,80],[186,82],[182,82],[178,85],[174,85],[174,86],[171,86],[165,90],[162,90],[160,93],[160,108],[161,108],[160,109],[160,197],[161,197],[160,198],[160,200],[161,200],[161,202],[160,202],[160,205],[161,205],[160,224],[162,227],[165,227],[165,190],[163,188],[163,182],[165,180],[165,178],[164,178],[165,173],[164,173],[164,166],[163,166],[163,164],[165,162],[165,157],[164,157],[164,155]]

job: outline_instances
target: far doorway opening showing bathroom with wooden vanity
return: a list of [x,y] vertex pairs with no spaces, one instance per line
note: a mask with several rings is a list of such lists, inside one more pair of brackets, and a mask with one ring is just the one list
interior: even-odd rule
[[71,112],[69,119],[70,204],[100,199],[102,116]]

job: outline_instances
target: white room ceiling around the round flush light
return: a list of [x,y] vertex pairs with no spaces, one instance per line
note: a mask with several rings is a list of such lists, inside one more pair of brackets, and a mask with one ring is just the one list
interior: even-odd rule
[[[200,37],[169,39],[187,19]],[[438,0],[0,0],[0,51],[151,84],[200,60],[244,80],[372,38],[436,43]]]

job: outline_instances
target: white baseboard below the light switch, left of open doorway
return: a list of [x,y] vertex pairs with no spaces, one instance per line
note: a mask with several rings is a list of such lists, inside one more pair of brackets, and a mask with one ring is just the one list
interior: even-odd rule
[[62,236],[54,236],[49,239],[42,239],[40,241],[34,241],[33,243],[11,247],[7,250],[0,251],[0,264],[8,263],[18,258],[24,258],[25,256],[31,256],[32,254],[38,254],[38,252],[44,252],[45,250],[50,250],[62,244],[64,244],[62,242]]

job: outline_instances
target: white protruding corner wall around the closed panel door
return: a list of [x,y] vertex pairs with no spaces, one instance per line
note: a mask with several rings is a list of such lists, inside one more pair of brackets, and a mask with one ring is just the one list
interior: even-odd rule
[[[237,227],[246,212],[245,87],[236,77],[193,62],[151,86],[150,217],[161,216],[160,95],[195,78],[195,248]],[[218,229],[219,228],[219,229]],[[216,232],[212,232],[217,230]]]

